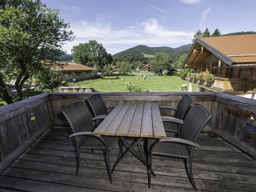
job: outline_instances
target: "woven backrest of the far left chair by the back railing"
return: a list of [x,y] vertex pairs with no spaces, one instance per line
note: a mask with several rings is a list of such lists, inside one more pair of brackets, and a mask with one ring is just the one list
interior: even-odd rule
[[101,95],[91,95],[85,101],[89,109],[91,110],[93,116],[108,115],[108,109]]

